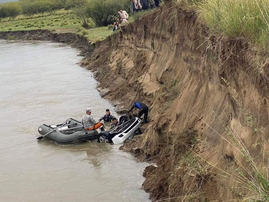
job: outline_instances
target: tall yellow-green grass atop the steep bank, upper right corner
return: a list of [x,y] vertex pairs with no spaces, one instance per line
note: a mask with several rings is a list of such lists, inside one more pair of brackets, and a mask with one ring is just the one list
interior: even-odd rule
[[269,1],[197,0],[194,3],[210,28],[228,37],[246,37],[268,50]]

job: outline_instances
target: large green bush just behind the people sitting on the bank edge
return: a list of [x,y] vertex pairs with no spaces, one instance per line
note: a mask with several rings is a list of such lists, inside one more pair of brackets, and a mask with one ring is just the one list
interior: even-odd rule
[[92,18],[97,27],[112,24],[120,9],[128,11],[129,0],[89,0],[85,15]]

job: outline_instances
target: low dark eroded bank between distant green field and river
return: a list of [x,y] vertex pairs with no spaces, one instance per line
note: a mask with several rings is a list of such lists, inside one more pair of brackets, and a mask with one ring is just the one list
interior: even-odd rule
[[80,56],[89,56],[94,45],[88,40],[74,33],[52,33],[49,30],[29,30],[29,31],[8,31],[0,32],[0,39],[16,39],[16,40],[41,40],[41,41],[56,41],[71,44],[75,48],[82,49]]

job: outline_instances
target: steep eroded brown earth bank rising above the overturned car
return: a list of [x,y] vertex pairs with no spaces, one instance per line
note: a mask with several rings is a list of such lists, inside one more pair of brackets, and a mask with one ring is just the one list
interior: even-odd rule
[[[167,13],[173,15],[167,19]],[[123,26],[89,55],[81,65],[94,72],[101,95],[117,111],[125,111],[138,90],[136,100],[150,106],[145,134],[122,149],[156,162],[143,183],[153,201],[255,194],[242,188],[237,173],[255,176],[244,148],[259,168],[267,167],[266,55],[243,38],[211,34],[194,11],[171,5]]]

